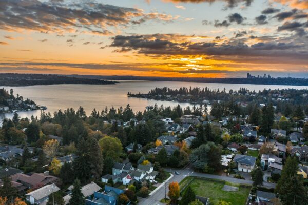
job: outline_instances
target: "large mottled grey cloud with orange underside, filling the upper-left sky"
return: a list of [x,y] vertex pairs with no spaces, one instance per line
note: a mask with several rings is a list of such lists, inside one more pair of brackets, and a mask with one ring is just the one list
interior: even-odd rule
[[107,27],[144,23],[148,20],[169,22],[176,17],[161,13],[145,13],[141,9],[105,5],[94,1],[62,3],[38,0],[2,0],[0,29],[7,31],[35,30],[63,33],[76,29],[109,34]]

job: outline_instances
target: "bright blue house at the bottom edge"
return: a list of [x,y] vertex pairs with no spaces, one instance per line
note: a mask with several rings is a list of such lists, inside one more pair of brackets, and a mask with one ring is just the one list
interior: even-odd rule
[[94,192],[93,198],[85,199],[85,205],[116,205],[119,204],[119,195],[123,193],[122,189],[105,185],[105,191]]

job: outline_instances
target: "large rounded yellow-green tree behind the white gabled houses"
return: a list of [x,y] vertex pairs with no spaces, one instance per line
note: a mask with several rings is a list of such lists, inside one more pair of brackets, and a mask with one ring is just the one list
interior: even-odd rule
[[114,161],[120,159],[123,147],[118,138],[105,136],[99,140],[99,145],[104,157],[111,157]]

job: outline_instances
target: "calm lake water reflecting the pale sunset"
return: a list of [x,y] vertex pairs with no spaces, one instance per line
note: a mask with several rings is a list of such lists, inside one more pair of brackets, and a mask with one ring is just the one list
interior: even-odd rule
[[[50,85],[50,86],[28,86],[28,87],[4,87],[6,90],[13,88],[14,95],[17,93],[22,95],[24,99],[30,98],[37,105],[47,106],[48,111],[53,113],[59,109],[74,108],[78,109],[82,106],[87,114],[90,114],[93,108],[101,111],[106,106],[110,108],[114,106],[125,107],[127,104],[136,111],[143,111],[146,106],[157,103],[159,106],[189,106],[189,103],[177,103],[171,101],[147,100],[142,98],[128,98],[127,92],[131,93],[147,93],[156,87],[169,87],[176,89],[180,87],[208,87],[209,89],[230,89],[239,90],[239,88],[247,88],[249,90],[266,89],[308,89],[304,86],[276,86],[276,85],[245,85],[245,84],[215,84],[215,83],[189,83],[189,82],[154,82],[154,81],[121,81],[117,85]],[[41,111],[35,110],[31,112],[18,112],[22,118],[31,115],[40,116]],[[4,117],[12,117],[12,113],[0,114],[0,123]]]

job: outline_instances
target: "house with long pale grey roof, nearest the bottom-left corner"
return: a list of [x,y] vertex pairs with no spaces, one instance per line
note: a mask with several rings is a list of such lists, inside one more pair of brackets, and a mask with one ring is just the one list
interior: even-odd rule
[[59,191],[60,188],[56,185],[46,185],[44,187],[41,187],[40,189],[34,190],[33,192],[30,192],[28,194],[25,194],[27,201],[29,201],[30,204],[46,204],[46,202],[49,199],[49,195]]

